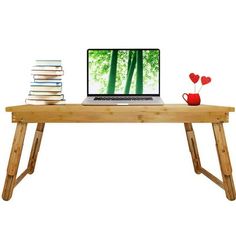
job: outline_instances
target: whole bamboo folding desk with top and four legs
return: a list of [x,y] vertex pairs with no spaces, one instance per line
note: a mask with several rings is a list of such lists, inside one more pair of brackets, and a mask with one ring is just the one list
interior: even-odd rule
[[[7,167],[7,174],[2,198],[9,200],[17,184],[35,169],[37,155],[45,123],[89,123],[89,122],[150,122],[150,123],[183,123],[192,156],[194,170],[204,174],[226,193],[229,200],[235,200],[236,193],[232,177],[232,167],[228,153],[223,123],[228,122],[229,112],[233,107],[220,106],[83,106],[81,104],[33,106],[21,105],[7,107],[12,113],[12,122],[17,123],[15,136]],[[18,166],[28,123],[37,123],[28,166],[17,177]],[[215,177],[201,166],[197,143],[192,123],[212,123],[216,149],[219,157],[222,180]]]

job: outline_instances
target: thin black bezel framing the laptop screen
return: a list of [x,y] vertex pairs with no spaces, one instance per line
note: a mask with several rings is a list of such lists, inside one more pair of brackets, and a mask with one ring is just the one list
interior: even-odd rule
[[[158,68],[159,68],[159,83],[158,83],[158,91],[159,93],[148,93],[148,94],[94,94],[94,93],[89,93],[89,51],[90,50],[158,50],[159,51],[159,60],[158,60]],[[160,96],[160,49],[159,48],[89,48],[87,49],[87,96]]]

